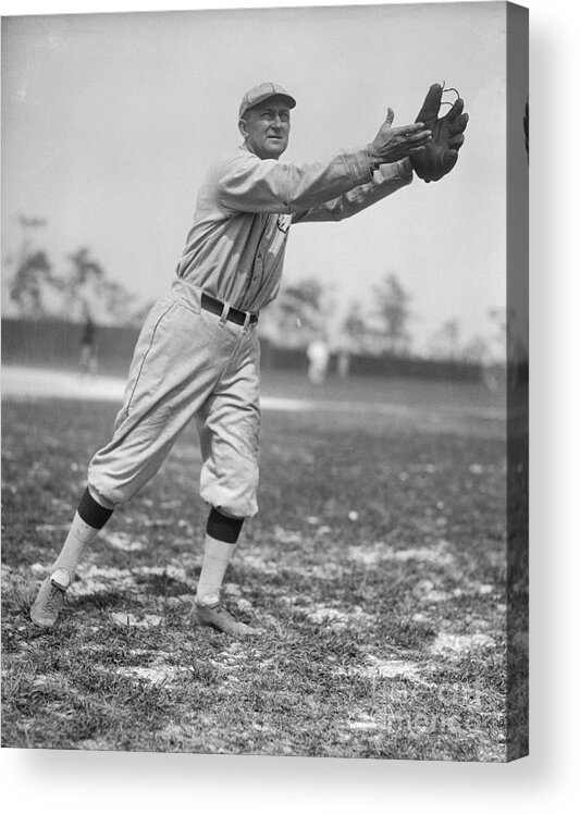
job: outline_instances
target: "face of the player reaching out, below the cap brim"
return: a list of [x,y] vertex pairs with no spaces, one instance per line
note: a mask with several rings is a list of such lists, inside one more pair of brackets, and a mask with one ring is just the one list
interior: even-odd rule
[[248,150],[258,158],[273,158],[277,161],[288,146],[288,106],[275,96],[267,99],[246,111],[246,118],[239,121],[239,132]]

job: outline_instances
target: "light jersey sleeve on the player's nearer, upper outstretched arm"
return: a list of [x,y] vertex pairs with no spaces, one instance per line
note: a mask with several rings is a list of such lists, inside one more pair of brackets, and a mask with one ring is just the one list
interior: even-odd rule
[[232,212],[293,214],[312,209],[372,180],[366,148],[344,150],[330,161],[284,163],[247,150],[220,169],[218,195]]

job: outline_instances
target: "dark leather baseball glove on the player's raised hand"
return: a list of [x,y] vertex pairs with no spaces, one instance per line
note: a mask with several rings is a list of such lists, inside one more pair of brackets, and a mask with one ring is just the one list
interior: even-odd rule
[[[455,90],[455,88],[448,88],[448,90]],[[451,109],[444,116],[439,118],[443,92],[441,85],[431,85],[423,107],[415,120],[422,122],[427,130],[431,131],[431,141],[425,149],[409,156],[412,169],[428,184],[430,181],[440,181],[457,163],[457,151],[464,144],[464,131],[469,120],[468,114],[462,112],[464,100],[457,90],[455,90],[457,99]]]

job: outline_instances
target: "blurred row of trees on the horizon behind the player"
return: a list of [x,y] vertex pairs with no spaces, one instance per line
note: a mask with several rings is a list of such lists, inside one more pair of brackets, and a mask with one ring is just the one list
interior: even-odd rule
[[[60,317],[75,320],[89,310],[92,319],[116,325],[139,326],[151,303],[111,280],[86,246],[66,255],[67,267],[57,273],[45,249],[33,239],[47,222],[18,217],[22,243],[11,258],[10,299],[24,319]],[[333,292],[319,280],[307,278],[282,288],[277,299],[261,314],[262,335],[277,345],[304,347],[313,337],[346,354],[409,356],[412,347],[411,296],[390,271],[372,287],[370,308],[353,300],[336,319]],[[471,336],[465,342],[459,320],[447,319],[432,335],[424,356],[483,362],[505,342],[506,319],[501,309],[490,311],[492,337]]]

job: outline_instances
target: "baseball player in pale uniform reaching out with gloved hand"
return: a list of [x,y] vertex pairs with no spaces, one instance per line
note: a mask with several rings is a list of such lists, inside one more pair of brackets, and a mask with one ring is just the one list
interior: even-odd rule
[[259,632],[220,601],[243,522],[258,510],[259,313],[279,292],[291,224],[348,218],[411,183],[414,172],[434,181],[453,168],[467,114],[459,99],[437,119],[442,92],[432,86],[415,124],[393,127],[390,108],[372,141],[309,163],[280,161],[294,97],[273,83],[245,94],[243,144],[202,182],[175,281],[137,341],[113,436],[90,461],[70,532],[32,607],[36,625],[55,624],[85,547],[195,420],[200,495],[210,509],[194,614],[226,633]]

